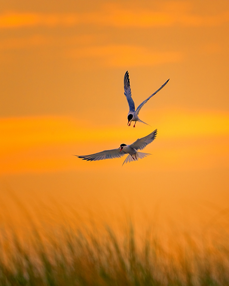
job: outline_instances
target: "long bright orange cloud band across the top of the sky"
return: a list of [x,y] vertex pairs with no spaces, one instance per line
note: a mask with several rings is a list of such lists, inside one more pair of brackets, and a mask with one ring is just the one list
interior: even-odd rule
[[180,1],[168,2],[157,9],[142,7],[123,8],[110,4],[90,13],[19,13],[8,12],[0,15],[0,28],[34,26],[76,26],[98,25],[108,27],[204,27],[218,26],[229,22],[229,11],[215,15],[200,15],[192,12],[191,5]]

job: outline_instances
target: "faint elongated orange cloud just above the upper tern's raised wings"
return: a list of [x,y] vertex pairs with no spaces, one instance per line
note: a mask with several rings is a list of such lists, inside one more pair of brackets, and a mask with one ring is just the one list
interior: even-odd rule
[[112,67],[152,66],[180,61],[183,54],[176,51],[153,51],[131,45],[105,45],[72,49],[67,55],[75,59],[99,59]]

